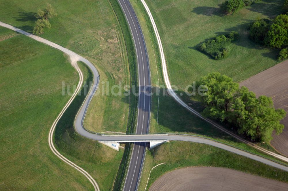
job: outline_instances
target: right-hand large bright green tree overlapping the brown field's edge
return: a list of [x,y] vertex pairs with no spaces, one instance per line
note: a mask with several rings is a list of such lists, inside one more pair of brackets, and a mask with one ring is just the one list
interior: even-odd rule
[[275,110],[273,101],[267,96],[256,98],[246,87],[240,89],[239,97],[233,104],[238,133],[246,134],[253,140],[270,142],[272,132],[281,133],[284,125],[279,122],[286,115],[283,109]]

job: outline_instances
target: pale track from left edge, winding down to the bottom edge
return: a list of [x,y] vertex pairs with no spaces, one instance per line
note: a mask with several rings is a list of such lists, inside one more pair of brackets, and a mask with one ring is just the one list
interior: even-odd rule
[[82,71],[80,70],[80,68],[78,67],[77,65],[77,61],[80,61],[80,58],[81,56],[77,55],[76,53],[60,46],[60,45],[57,45],[51,41],[48,41],[46,39],[43,39],[41,37],[38,37],[36,35],[32,35],[31,33],[27,33],[26,31],[24,30],[21,30],[19,28],[16,28],[14,26],[11,26],[9,24],[6,24],[6,23],[3,23],[0,21],[0,26],[3,26],[3,27],[6,27],[6,28],[9,28],[11,30],[14,30],[18,33],[22,33],[23,35],[26,35],[32,39],[35,39],[36,41],[39,41],[39,42],[42,42],[46,45],[49,45],[51,47],[54,47],[62,52],[64,52],[65,54],[67,54],[70,59],[71,59],[71,65],[77,70],[78,74],[79,74],[79,83],[77,85],[77,89],[76,91],[74,92],[74,94],[72,95],[72,97],[69,99],[69,101],[67,102],[67,104],[64,106],[64,108],[62,109],[62,111],[60,112],[60,114],[57,116],[57,118],[55,119],[54,123],[52,124],[51,126],[51,129],[49,131],[49,137],[48,137],[48,142],[49,142],[49,147],[50,149],[52,150],[52,152],[58,157],[60,158],[62,161],[64,161],[65,163],[67,163],[68,165],[70,165],[71,167],[75,168],[77,171],[79,171],[80,173],[82,173],[93,185],[94,189],[96,191],[100,191],[100,188],[97,184],[97,182],[94,180],[94,178],[87,172],[85,171],[84,169],[82,169],[81,167],[77,166],[75,163],[73,163],[72,161],[69,161],[65,156],[63,156],[62,154],[60,154],[58,152],[58,150],[56,150],[54,144],[53,144],[53,134],[54,134],[54,130],[55,130],[55,127],[58,123],[58,121],[60,120],[60,118],[62,117],[63,113],[66,111],[66,109],[69,107],[69,105],[71,104],[71,102],[74,100],[75,96],[77,95],[78,91],[80,90],[81,88],[81,85],[83,83],[83,74],[82,74]]

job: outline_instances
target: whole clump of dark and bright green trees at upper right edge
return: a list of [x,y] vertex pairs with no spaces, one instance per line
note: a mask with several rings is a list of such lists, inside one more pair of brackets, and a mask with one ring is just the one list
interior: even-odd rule
[[283,50],[279,54],[279,59],[285,59],[283,54],[288,45],[288,15],[278,15],[274,22],[269,20],[257,20],[250,26],[250,38],[262,45]]

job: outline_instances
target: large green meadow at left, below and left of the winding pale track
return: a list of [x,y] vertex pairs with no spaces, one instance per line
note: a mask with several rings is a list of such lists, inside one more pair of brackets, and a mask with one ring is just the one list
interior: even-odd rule
[[[60,51],[0,28],[0,190],[87,190],[86,177],[51,152],[48,133],[78,82]],[[29,48],[27,48],[29,47]]]

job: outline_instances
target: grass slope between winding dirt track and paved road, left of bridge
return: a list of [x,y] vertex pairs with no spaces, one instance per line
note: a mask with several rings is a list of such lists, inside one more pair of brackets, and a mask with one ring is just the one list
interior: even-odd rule
[[[80,69],[83,71],[86,81],[92,80],[92,73],[87,66],[81,64]],[[96,141],[86,139],[78,135],[73,127],[75,115],[82,105],[85,98],[83,89],[81,96],[77,96],[63,114],[55,131],[56,147],[71,161],[88,171],[97,181],[101,190],[111,190],[116,177],[115,169],[118,168],[123,149],[116,151],[107,148]]]

